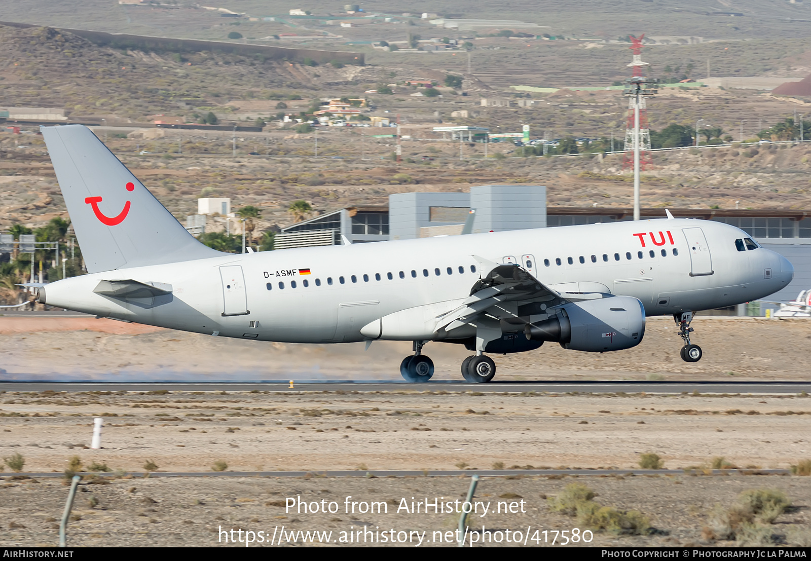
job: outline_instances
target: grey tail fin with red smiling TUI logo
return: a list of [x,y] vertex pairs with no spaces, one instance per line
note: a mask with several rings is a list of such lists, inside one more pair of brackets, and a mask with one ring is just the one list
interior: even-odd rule
[[41,131],[89,272],[221,255],[188,233],[86,126]]

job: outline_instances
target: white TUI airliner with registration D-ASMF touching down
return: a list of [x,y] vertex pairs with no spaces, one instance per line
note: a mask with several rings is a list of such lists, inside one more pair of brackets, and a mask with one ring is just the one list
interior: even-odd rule
[[[164,328],[291,343],[414,341],[401,375],[427,382],[428,341],[484,353],[545,341],[603,353],[673,315],[681,357],[694,310],[783,289],[792,264],[719,222],[669,219],[308,247],[214,251],[193,238],[88,128],[43,127],[88,275],[38,285],[38,302]],[[668,213],[669,214],[669,213]]]

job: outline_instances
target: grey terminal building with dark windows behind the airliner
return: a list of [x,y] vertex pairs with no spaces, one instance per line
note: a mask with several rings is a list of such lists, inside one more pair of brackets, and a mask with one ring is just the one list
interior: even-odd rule
[[[511,229],[552,228],[633,220],[633,208],[547,207],[546,187],[533,185],[475,186],[470,193],[400,193],[389,195],[388,206],[350,207],[281,229],[275,249],[431,238],[461,233],[470,208],[476,209],[474,233]],[[770,300],[787,302],[811,289],[811,210],[743,210],[670,208],[678,218],[711,220],[734,225],[762,246],[794,265],[791,284]],[[642,208],[642,219],[663,218],[663,208]],[[723,310],[730,315],[764,315],[779,306],[753,302]]]

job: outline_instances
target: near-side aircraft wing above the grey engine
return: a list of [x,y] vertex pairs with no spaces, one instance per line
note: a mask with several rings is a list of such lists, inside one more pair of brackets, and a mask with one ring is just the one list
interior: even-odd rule
[[548,308],[576,299],[590,299],[590,295],[559,293],[516,264],[491,263],[490,271],[473,285],[470,297],[461,306],[438,318],[436,332],[448,332],[465,324],[474,325],[483,316],[527,323],[526,319],[521,320],[522,316],[534,315],[533,312],[545,314]]

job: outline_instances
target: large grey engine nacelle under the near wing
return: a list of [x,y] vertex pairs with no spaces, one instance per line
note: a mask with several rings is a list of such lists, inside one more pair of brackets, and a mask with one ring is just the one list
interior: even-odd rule
[[564,349],[602,353],[630,349],[645,336],[645,308],[632,296],[609,296],[565,304],[560,312],[524,329],[530,340],[560,343]]

